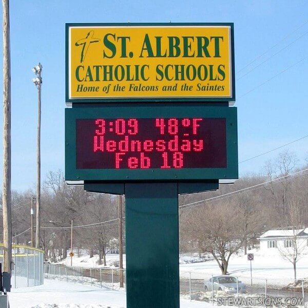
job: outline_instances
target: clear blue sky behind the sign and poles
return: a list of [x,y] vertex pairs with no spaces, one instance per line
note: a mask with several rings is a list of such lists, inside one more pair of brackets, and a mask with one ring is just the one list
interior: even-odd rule
[[[243,161],[308,134],[307,13],[306,0],[11,1],[12,188],[35,187],[37,90],[31,68],[38,62],[42,180],[49,170],[64,170],[65,23],[234,23]],[[308,138],[287,148],[303,163]],[[241,163],[240,175],[260,172],[278,152]]]

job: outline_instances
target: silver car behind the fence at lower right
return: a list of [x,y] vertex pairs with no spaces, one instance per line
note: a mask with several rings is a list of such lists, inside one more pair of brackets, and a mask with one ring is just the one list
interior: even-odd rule
[[238,281],[235,277],[228,276],[228,275],[221,275],[213,277],[209,280],[204,280],[204,291],[212,291],[212,285],[214,291],[224,291],[226,293],[237,293],[237,284],[239,286],[239,293],[246,292],[246,285],[241,281]]

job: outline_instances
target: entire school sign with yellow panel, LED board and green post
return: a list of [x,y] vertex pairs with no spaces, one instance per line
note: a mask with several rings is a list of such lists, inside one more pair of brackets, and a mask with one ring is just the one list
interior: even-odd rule
[[66,31],[65,178],[125,195],[127,308],[179,308],[178,195],[238,178],[233,24]]

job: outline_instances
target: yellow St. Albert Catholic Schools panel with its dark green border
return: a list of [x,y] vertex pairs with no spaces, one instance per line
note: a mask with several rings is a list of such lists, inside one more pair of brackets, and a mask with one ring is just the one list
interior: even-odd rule
[[233,25],[67,25],[67,101],[235,99]]

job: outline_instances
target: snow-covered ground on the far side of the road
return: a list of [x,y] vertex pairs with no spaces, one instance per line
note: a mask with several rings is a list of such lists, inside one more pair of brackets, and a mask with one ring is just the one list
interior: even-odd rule
[[[293,265],[290,261],[284,260],[281,256],[264,256],[256,249],[248,251],[255,256],[252,261],[252,275],[255,282],[271,285],[287,285],[294,281]],[[119,266],[119,255],[107,255],[107,267]],[[125,255],[123,257],[125,268]],[[203,261],[197,255],[182,255],[180,257],[180,277],[189,278],[189,272],[192,279],[207,279],[210,275],[220,275],[220,269],[215,260]],[[201,262],[200,262],[201,261]],[[58,264],[70,265],[70,258],[59,262]],[[83,251],[81,257],[73,257],[73,266],[78,267],[104,267],[98,265],[98,256],[94,255],[90,258],[87,252]],[[250,262],[247,256],[232,256],[229,260],[228,274],[239,277],[243,282],[250,281]],[[297,263],[297,278],[308,277],[308,255],[302,256]]]

